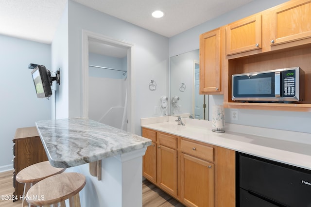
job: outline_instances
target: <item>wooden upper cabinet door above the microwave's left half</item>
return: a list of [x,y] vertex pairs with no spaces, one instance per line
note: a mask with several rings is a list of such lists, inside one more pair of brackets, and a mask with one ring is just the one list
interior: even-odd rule
[[228,24],[225,36],[226,55],[261,48],[261,15]]

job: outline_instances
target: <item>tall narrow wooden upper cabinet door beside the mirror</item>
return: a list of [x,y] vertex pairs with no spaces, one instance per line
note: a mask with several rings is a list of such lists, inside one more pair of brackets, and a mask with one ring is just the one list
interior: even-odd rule
[[200,94],[221,92],[220,29],[200,35]]

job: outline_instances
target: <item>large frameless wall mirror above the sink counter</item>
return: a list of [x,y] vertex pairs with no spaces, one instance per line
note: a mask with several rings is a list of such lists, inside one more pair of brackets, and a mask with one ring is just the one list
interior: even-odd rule
[[170,58],[170,115],[208,120],[208,96],[199,95],[199,49]]

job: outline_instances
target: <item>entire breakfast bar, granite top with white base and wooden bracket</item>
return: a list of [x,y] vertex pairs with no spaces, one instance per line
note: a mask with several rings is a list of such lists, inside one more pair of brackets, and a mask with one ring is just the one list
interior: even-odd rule
[[37,121],[36,127],[52,166],[86,176],[82,207],[142,206],[142,156],[151,140],[87,118]]

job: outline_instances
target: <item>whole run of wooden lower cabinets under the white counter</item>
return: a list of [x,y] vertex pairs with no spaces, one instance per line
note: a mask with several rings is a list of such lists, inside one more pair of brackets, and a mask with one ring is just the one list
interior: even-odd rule
[[143,176],[187,207],[235,207],[235,151],[142,127]]

